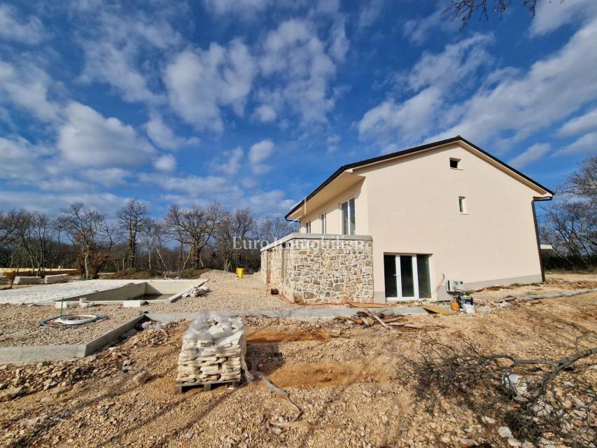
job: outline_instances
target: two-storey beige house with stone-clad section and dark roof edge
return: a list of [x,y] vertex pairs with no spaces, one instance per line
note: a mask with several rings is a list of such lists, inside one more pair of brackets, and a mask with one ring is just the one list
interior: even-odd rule
[[262,248],[262,280],[293,302],[393,302],[544,279],[535,202],[553,193],[457,136],[344,165]]

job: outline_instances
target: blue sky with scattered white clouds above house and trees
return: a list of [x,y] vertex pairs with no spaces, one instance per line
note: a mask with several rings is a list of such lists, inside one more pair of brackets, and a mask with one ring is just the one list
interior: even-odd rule
[[0,208],[284,214],[337,167],[461,134],[555,186],[597,148],[597,2],[0,3]]

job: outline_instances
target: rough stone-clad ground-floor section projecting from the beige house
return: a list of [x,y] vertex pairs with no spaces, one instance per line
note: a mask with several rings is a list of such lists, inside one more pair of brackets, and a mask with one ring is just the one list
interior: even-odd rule
[[268,283],[269,264],[269,287],[278,288],[287,300],[299,303],[372,302],[370,238],[294,237],[265,249],[261,256],[262,281]]

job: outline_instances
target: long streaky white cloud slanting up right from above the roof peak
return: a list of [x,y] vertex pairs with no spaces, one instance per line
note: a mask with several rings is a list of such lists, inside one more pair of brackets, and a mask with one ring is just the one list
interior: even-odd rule
[[[519,141],[568,116],[597,98],[597,20],[577,31],[564,47],[539,59],[526,73],[500,71],[463,104],[454,106],[454,125],[430,139],[461,134],[479,144],[504,132]],[[578,86],[582,86],[579,88]]]

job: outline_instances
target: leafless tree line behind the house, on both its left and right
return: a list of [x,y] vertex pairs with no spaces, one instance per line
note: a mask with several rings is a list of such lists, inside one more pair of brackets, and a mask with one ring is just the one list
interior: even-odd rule
[[[553,251],[548,269],[595,269],[597,265],[597,155],[557,188],[538,218],[540,239]],[[0,211],[0,267],[47,269],[76,267],[83,279],[99,272],[146,270],[150,275],[183,276],[187,269],[259,269],[258,246],[239,241],[274,241],[297,231],[282,218],[258,219],[250,209],[228,210],[172,204],[152,218],[144,202],[133,199],[111,219],[70,204],[57,216],[26,209]]]

